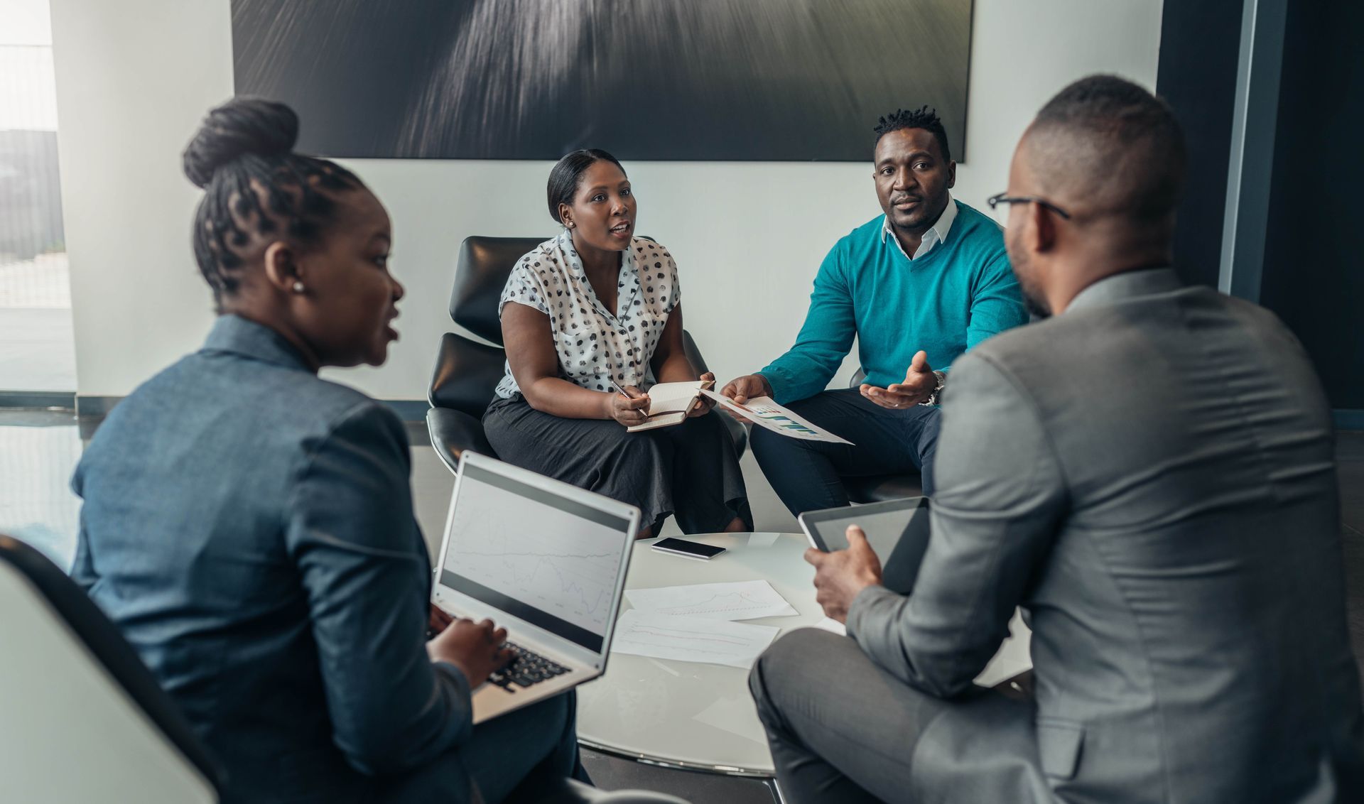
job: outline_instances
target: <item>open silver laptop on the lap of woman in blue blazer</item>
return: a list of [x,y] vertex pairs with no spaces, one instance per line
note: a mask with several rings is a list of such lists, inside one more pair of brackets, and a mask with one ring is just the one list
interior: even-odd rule
[[473,691],[479,724],[606,672],[640,510],[460,457],[431,602],[507,630],[512,664]]

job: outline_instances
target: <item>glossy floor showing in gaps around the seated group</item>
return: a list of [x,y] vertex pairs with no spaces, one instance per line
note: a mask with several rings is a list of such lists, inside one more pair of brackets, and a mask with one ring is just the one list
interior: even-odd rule
[[[75,548],[78,500],[67,480],[97,421],[78,422],[70,413],[0,410],[0,533],[23,538],[59,563],[70,563]],[[424,428],[412,427],[413,499],[417,518],[439,537],[439,522],[453,485],[449,470],[423,443]],[[1337,439],[1341,485],[1341,537],[1348,583],[1348,616],[1354,655],[1364,657],[1364,433]],[[758,530],[790,531],[794,522],[767,488],[756,466],[745,461]],[[1364,670],[1361,670],[1364,681]],[[659,790],[693,804],[771,804],[772,788],[750,778],[671,770],[584,752],[593,781],[610,790]]]

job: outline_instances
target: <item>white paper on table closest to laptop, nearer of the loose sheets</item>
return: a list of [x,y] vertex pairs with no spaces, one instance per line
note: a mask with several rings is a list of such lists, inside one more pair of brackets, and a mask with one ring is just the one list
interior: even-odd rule
[[611,653],[749,669],[780,628],[630,609],[611,636]]

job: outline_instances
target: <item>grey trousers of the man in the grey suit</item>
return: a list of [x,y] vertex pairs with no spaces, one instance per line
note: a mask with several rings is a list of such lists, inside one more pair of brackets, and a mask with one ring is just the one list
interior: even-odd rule
[[985,688],[932,698],[817,628],[777,639],[749,687],[791,804],[1056,801],[1031,700]]

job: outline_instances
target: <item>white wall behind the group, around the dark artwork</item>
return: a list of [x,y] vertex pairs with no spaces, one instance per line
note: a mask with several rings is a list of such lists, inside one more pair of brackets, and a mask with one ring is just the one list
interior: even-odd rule
[[[195,349],[211,323],[188,237],[198,191],[179,154],[203,112],[232,94],[229,0],[52,0],[52,22],[78,388],[119,397]],[[1102,71],[1154,87],[1159,30],[1161,0],[975,0],[958,198],[981,207],[1004,189],[1018,136],[1065,83]],[[334,376],[420,399],[460,241],[551,233],[550,164],[348,164],[389,207],[408,298],[389,362]],[[790,345],[824,253],[880,213],[869,164],[626,169],[638,232],[677,258],[686,326],[722,382]]]

